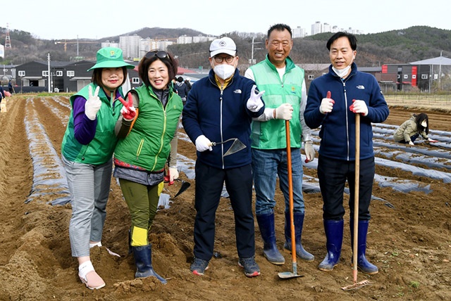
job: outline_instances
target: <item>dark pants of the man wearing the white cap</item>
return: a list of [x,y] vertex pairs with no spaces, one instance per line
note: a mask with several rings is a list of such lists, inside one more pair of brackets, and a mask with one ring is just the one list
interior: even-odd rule
[[223,184],[226,182],[235,217],[235,236],[239,257],[255,255],[254,215],[252,214],[251,165],[218,169],[196,162],[197,211],[194,221],[194,256],[210,260],[214,250],[215,217]]

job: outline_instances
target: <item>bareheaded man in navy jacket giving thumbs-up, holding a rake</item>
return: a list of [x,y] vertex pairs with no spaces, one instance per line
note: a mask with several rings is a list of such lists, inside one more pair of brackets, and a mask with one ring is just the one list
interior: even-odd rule
[[327,255],[319,264],[321,271],[332,271],[338,262],[343,239],[343,190],[350,188],[351,243],[354,234],[355,114],[360,114],[359,228],[357,267],[366,274],[378,267],[366,260],[366,233],[370,219],[369,204],[375,172],[371,122],[388,117],[388,105],[373,75],[359,72],[354,63],[357,39],[337,32],[328,40],[329,72],[310,84],[305,122],[321,127],[318,179],[323,196],[323,224]]

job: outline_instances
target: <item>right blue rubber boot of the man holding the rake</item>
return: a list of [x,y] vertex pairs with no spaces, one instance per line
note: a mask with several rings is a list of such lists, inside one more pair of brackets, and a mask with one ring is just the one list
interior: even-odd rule
[[[357,237],[357,267],[366,274],[378,274],[379,269],[366,260],[366,234],[368,233],[368,220],[359,220],[359,233]],[[354,219],[350,219],[351,248],[354,250]],[[354,257],[352,257],[354,258]],[[352,263],[352,260],[351,260]]]

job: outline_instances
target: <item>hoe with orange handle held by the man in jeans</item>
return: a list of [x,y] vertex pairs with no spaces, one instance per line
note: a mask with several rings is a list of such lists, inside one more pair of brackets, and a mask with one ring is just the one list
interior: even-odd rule
[[290,120],[285,120],[285,132],[287,136],[287,165],[288,165],[288,194],[290,195],[290,227],[291,227],[291,257],[292,257],[292,272],[283,271],[278,275],[280,278],[288,279],[295,277],[303,277],[304,275],[297,274],[296,263],[296,238],[295,238],[295,208],[293,205],[293,177],[291,170],[291,146],[290,146]]

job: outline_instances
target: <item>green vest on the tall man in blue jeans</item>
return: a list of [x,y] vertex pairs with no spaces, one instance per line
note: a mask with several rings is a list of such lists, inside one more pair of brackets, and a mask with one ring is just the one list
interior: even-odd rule
[[[266,56],[257,65],[251,67],[259,91],[265,91],[263,96],[266,108],[278,108],[283,103],[290,103],[294,113],[290,120],[290,146],[301,147],[301,123],[299,120],[299,107],[302,98],[302,82],[304,70],[293,63],[291,58],[286,59],[285,75],[280,81],[279,74]],[[278,149],[286,148],[285,120],[268,120],[266,122],[252,121],[252,148]]]

